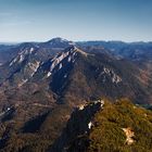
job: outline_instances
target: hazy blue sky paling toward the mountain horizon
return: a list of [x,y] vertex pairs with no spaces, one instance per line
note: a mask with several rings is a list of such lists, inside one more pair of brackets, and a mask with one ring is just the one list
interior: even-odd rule
[[0,41],[152,41],[152,0],[0,0]]

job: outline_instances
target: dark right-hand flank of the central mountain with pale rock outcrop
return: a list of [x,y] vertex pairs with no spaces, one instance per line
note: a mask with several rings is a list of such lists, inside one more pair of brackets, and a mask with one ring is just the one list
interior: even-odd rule
[[140,103],[140,100],[144,102],[143,97],[151,99],[151,96],[138,79],[139,75],[139,68],[125,60],[117,60],[105,53],[88,54],[87,58],[80,55],[69,77],[67,97],[74,98],[76,94],[78,99],[86,98],[86,100],[101,96],[113,99],[130,97],[136,102]]

